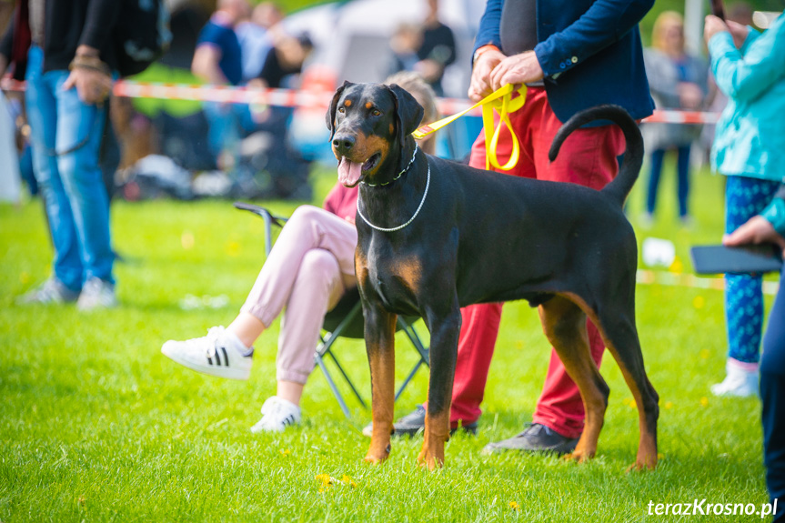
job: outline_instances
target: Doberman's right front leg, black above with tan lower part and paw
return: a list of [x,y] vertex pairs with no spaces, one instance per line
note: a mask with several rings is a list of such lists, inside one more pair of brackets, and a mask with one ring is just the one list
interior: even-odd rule
[[427,315],[430,330],[430,380],[425,434],[418,463],[434,468],[444,465],[444,444],[449,439],[449,407],[458,356],[460,309],[440,317]]

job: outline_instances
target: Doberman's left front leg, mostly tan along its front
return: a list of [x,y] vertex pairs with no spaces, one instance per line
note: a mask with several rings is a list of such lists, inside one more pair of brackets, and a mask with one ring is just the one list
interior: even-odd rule
[[[366,305],[366,304],[364,304]],[[365,337],[371,367],[373,434],[365,460],[379,463],[390,452],[395,405],[395,325],[398,317],[381,307],[365,307]]]

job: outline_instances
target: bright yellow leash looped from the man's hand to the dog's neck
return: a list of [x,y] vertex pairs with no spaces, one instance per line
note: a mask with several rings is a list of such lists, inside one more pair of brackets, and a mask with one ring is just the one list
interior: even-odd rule
[[[513,93],[518,93],[518,96],[513,98]],[[482,127],[485,131],[485,168],[489,169],[491,166],[502,171],[508,171],[518,164],[520,157],[520,145],[518,144],[518,136],[515,136],[515,131],[512,129],[512,124],[509,121],[509,113],[518,111],[526,102],[526,85],[521,85],[519,89],[515,89],[512,84],[504,85],[497,91],[480,100],[474,106],[456,113],[453,116],[442,118],[432,124],[421,126],[412,133],[412,136],[418,140],[435,133],[444,126],[448,126],[456,121],[461,116],[466,115],[469,111],[482,106]],[[493,123],[493,109],[498,112],[498,126]],[[501,134],[501,126],[507,126],[509,134],[512,138],[512,153],[509,156],[507,163],[503,166],[498,164],[498,157],[496,156],[496,148],[498,146],[498,136]]]

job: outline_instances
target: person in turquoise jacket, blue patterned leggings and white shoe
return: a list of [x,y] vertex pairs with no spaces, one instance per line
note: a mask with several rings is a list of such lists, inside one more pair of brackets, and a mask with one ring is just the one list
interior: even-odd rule
[[[725,232],[759,214],[785,178],[785,17],[764,33],[716,16],[706,19],[711,72],[728,96],[711,148],[712,166],[728,176]],[[758,392],[763,327],[762,277],[725,276],[727,377],[711,387],[718,396]]]

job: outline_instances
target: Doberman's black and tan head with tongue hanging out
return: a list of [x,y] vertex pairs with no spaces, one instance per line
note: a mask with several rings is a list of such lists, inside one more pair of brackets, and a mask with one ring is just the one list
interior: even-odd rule
[[351,187],[395,171],[404,142],[422,116],[422,106],[398,85],[346,82],[338,87],[327,110],[338,181]]

